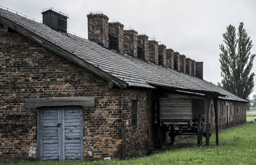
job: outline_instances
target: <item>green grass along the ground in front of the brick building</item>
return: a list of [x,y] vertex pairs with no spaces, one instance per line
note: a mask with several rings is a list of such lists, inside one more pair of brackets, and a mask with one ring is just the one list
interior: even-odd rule
[[[248,113],[254,118],[256,111]],[[196,145],[187,148],[172,148],[155,155],[125,161],[63,161],[63,162],[20,162],[19,164],[256,164],[256,123],[246,123],[220,132],[220,146]],[[195,144],[195,141],[191,143]],[[204,141],[205,143],[205,141]],[[12,162],[8,163],[12,164]]]

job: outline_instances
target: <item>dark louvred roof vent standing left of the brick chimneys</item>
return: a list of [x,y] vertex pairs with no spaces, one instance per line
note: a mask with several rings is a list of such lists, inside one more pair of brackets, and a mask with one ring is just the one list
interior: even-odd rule
[[50,8],[42,12],[42,14],[43,24],[49,26],[56,31],[67,33],[68,16],[65,13],[56,12],[56,10]]

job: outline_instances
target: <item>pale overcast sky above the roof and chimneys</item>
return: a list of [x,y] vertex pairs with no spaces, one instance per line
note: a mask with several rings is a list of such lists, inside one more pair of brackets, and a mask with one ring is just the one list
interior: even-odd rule
[[[109,21],[124,24],[139,34],[185,54],[196,61],[204,61],[204,79],[221,81],[219,45],[228,25],[244,28],[253,41],[252,54],[256,54],[256,1],[161,1],[161,0],[1,0],[1,6],[42,20],[42,10],[55,8],[68,14],[68,31],[87,36],[87,17],[90,12],[103,12]],[[253,72],[256,73],[256,60]],[[254,79],[256,86],[256,77]],[[256,87],[253,93],[256,94]]]

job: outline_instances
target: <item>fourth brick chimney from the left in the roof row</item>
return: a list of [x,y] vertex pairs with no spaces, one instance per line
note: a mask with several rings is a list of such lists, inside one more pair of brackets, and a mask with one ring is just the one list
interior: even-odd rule
[[148,61],[148,36],[138,35],[138,58]]

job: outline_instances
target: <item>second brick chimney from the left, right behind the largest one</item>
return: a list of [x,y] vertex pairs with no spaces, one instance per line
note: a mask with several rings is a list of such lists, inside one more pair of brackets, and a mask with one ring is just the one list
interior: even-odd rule
[[120,22],[108,23],[109,49],[124,53],[124,25]]

